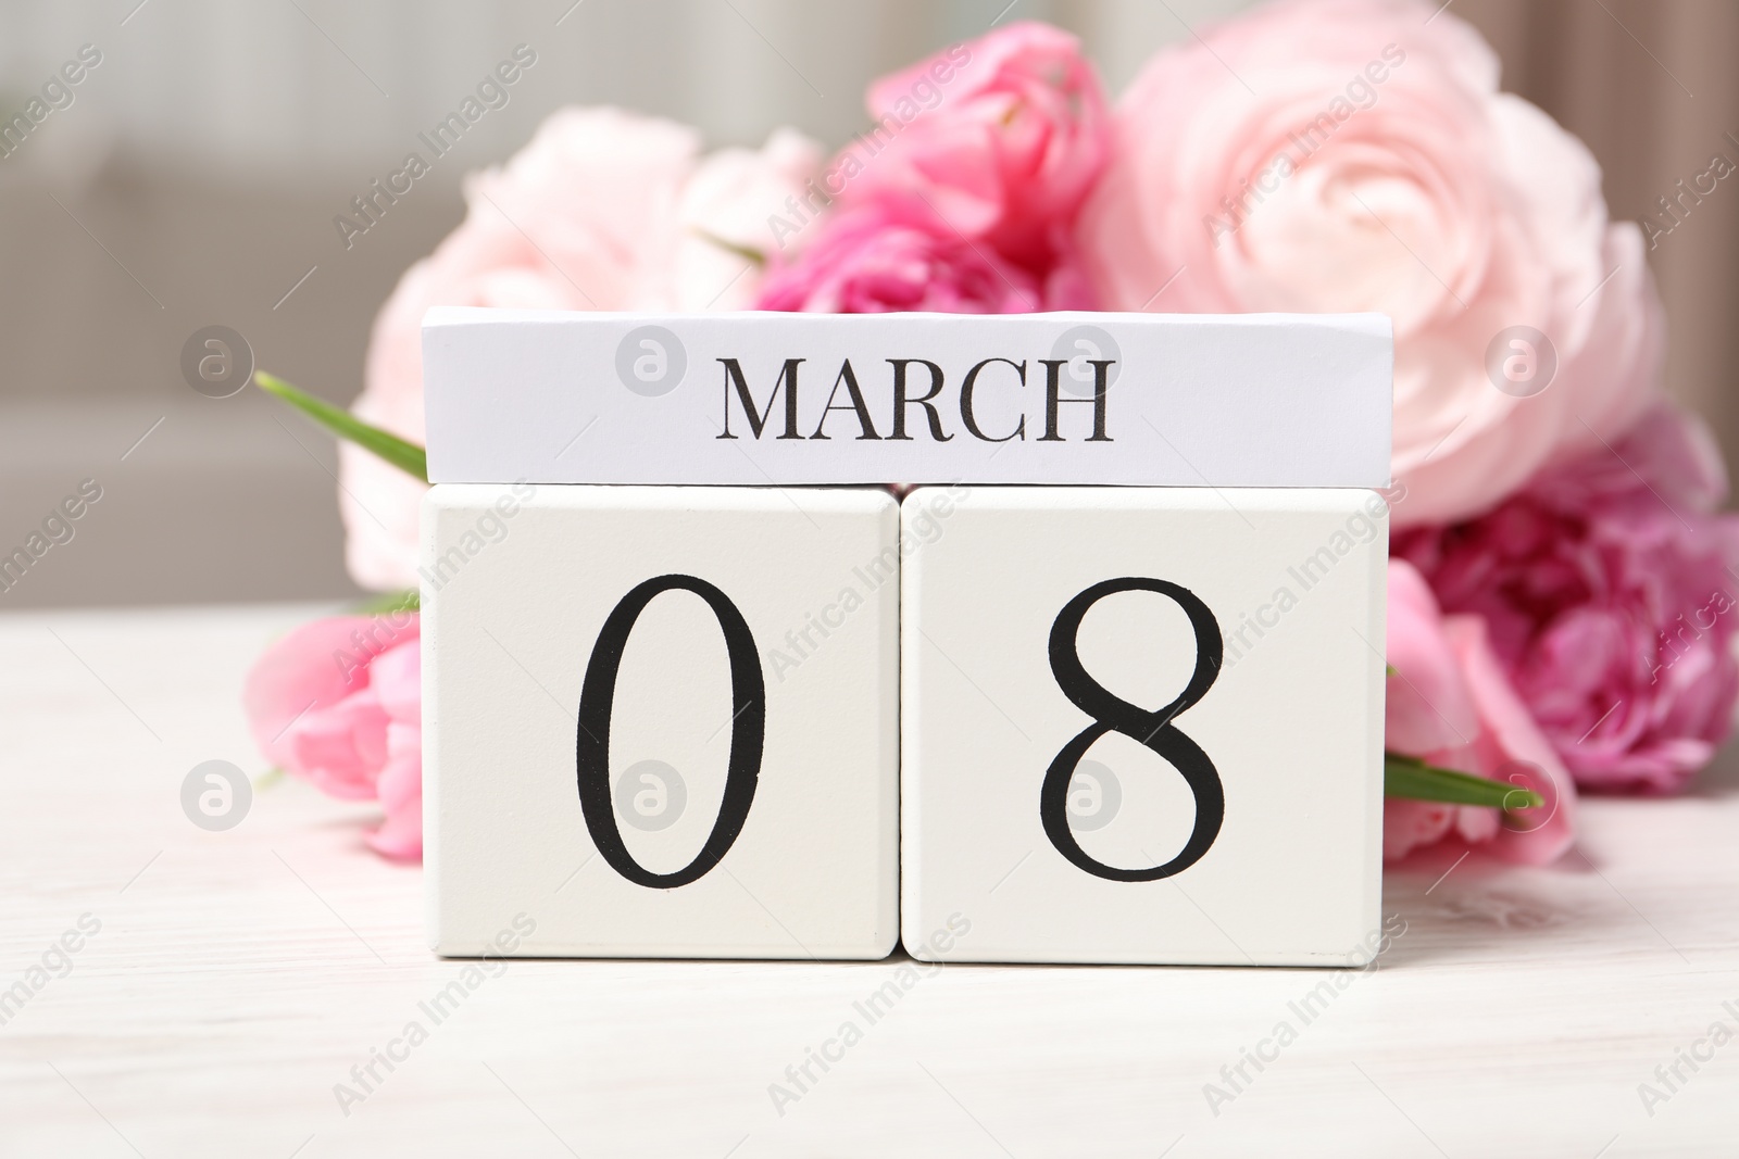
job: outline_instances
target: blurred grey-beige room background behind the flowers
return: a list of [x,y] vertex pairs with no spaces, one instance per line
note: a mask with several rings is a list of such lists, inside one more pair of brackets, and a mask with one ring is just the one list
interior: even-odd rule
[[[614,103],[760,144],[830,148],[868,80],[993,21],[1078,33],[1113,94],[1240,0],[0,0],[0,116],[66,61],[101,61],[0,156],[0,554],[96,480],[73,542],[0,608],[329,598],[341,563],[330,438],[257,391],[183,381],[188,335],[240,332],[259,367],[348,403],[400,273],[463,215],[466,170],[567,103]],[[1504,87],[1582,137],[1616,217],[1657,222],[1668,389],[1739,452],[1739,163],[1730,0],[1450,0]],[[332,226],[513,45],[537,66],[344,248]],[[89,57],[89,54],[87,54]],[[3,139],[0,139],[3,141]],[[1668,228],[1671,231],[1668,233]],[[64,556],[64,558],[63,558]]]

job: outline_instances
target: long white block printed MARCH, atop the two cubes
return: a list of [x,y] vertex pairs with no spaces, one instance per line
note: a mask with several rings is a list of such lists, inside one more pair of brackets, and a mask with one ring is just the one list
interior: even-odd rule
[[436,308],[436,483],[1386,487],[1383,315]]

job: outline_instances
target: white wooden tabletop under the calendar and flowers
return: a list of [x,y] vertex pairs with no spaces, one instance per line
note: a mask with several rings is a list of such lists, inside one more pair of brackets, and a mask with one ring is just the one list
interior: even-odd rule
[[[263,770],[242,674],[313,612],[0,617],[0,987],[101,923],[0,1025],[0,1154],[1739,1150],[1739,1041],[1696,1046],[1739,1034],[1730,758],[1685,798],[1584,801],[1560,865],[1389,874],[1405,933],[1308,1023],[1332,975],[948,966],[868,1025],[899,957],[520,961],[435,1025],[419,1003],[466,966],[423,945],[421,871],[362,846],[370,808],[282,782],[228,832],[181,811],[193,765]],[[334,1086],[412,1020],[428,1039],[344,1114]],[[769,1086],[847,1020],[863,1041],[781,1114]],[[1280,1022],[1235,1091],[1221,1067]]]

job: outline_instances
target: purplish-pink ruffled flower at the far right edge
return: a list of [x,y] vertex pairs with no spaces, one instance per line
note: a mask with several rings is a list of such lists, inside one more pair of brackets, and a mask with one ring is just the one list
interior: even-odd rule
[[1739,518],[1720,452],[1662,407],[1501,507],[1395,553],[1492,646],[1584,789],[1669,792],[1732,726]]

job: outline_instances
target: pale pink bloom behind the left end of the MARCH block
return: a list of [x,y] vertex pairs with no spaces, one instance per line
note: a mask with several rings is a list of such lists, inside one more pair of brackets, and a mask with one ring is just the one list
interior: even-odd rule
[[[769,219],[821,151],[779,130],[758,149],[701,156],[673,122],[609,108],[551,113],[504,167],[466,181],[464,222],[412,266],[381,308],[355,414],[421,443],[423,315],[431,306],[743,309],[769,252]],[[744,250],[744,252],[739,252]],[[363,587],[416,587],[424,487],[339,447],[346,561]]]

